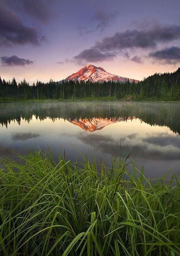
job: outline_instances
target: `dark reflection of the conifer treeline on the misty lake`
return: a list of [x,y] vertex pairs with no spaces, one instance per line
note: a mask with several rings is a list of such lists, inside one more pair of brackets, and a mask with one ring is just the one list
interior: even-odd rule
[[15,103],[1,104],[0,124],[6,127],[12,121],[20,125],[21,120],[28,123],[33,115],[43,121],[50,118],[74,120],[92,117],[118,118],[136,116],[150,125],[167,126],[180,134],[180,104],[150,102],[51,102],[51,103]]

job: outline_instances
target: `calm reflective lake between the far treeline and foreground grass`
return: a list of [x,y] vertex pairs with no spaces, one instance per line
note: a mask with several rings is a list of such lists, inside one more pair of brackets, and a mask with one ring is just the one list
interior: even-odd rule
[[[47,151],[55,161],[90,160],[96,152],[129,156],[151,178],[180,174],[180,103],[176,102],[17,102],[0,104],[0,156]],[[130,168],[130,167],[128,167]]]

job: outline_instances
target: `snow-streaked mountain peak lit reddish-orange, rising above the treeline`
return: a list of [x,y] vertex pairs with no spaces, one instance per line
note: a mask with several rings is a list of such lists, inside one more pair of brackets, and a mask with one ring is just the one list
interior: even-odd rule
[[[120,82],[126,82],[126,80],[128,80],[128,78],[125,78],[123,76],[117,76],[111,73],[106,72],[106,70],[104,70],[101,67],[96,67],[94,65],[87,65],[85,67],[83,67],[82,69],[80,69],[79,71],[77,71],[76,73],[73,73],[72,75],[66,77],[65,80],[84,80],[85,82],[90,80],[90,82],[104,82],[104,81],[120,81]],[[130,82],[133,82],[133,79],[129,78]],[[135,83],[138,83],[138,80],[134,80]]]

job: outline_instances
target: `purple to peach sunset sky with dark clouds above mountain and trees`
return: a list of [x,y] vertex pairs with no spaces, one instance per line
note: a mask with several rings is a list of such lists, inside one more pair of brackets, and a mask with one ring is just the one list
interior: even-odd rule
[[143,80],[180,67],[179,0],[0,0],[0,76],[59,81],[84,65]]

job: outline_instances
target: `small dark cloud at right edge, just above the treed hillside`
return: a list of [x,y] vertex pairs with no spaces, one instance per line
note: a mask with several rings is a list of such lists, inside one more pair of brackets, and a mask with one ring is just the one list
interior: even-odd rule
[[163,61],[165,64],[176,64],[180,61],[180,47],[171,46],[156,52],[150,52],[149,57],[155,61]]

